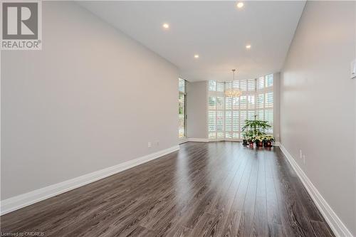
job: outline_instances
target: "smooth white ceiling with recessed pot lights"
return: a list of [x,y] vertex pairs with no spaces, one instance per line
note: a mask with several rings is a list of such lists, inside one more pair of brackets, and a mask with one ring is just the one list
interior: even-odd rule
[[[305,1],[81,1],[177,65],[182,78],[257,78],[281,70]],[[169,23],[169,30],[162,28]],[[251,49],[246,50],[246,44]],[[194,54],[199,54],[195,59]]]

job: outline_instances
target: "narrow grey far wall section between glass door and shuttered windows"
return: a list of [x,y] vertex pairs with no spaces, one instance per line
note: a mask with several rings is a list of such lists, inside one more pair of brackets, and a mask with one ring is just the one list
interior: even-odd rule
[[207,81],[187,83],[187,137],[208,138]]

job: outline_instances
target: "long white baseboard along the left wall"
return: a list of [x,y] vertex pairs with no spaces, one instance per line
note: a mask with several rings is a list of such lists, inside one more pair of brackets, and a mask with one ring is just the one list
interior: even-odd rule
[[103,179],[109,177],[112,174],[117,174],[126,169],[130,169],[139,164],[143,164],[145,162],[149,162],[152,159],[157,159],[159,157],[164,156],[165,154],[169,154],[171,152],[175,152],[179,149],[179,146],[170,147],[168,149],[163,149],[159,152],[155,152],[152,154],[148,154],[144,157],[140,157],[137,159],[132,159],[128,162],[124,162],[121,164],[117,164],[112,167],[108,167],[105,169],[100,169],[96,172],[92,172],[90,174],[84,174],[83,176],[76,177],[74,179],[69,179],[67,181],[63,181],[58,184],[53,184],[51,186],[46,186],[42,189],[37,189],[34,191],[30,191],[26,194],[21,194],[19,196],[14,196],[9,199],[5,199],[1,201],[1,215],[7,214],[11,211],[16,211],[17,209],[21,209],[25,206],[29,206],[31,204],[35,204],[38,201],[43,201],[44,199],[48,199],[52,196],[56,196],[58,194],[63,194],[66,191],[70,191],[72,189],[76,189],[85,184],[90,184],[93,181],[98,181],[99,179]]

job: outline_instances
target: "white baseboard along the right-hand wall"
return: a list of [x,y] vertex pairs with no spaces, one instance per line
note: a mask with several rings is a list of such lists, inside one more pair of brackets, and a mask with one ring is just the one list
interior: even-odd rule
[[335,233],[337,237],[352,237],[352,233],[347,229],[344,223],[340,220],[340,218],[335,214],[335,211],[331,209],[328,202],[325,201],[323,196],[319,193],[318,189],[315,188],[313,183],[307,177],[307,175],[303,172],[303,170],[299,167],[298,163],[295,162],[295,159],[290,155],[287,151],[286,147],[283,144],[280,144],[281,150],[283,154],[286,156],[288,162],[293,167],[295,172],[297,173],[300,181],[302,181],[305,189],[307,189],[308,194],[313,199],[315,205],[318,207],[320,213],[325,218],[325,221],[328,222],[330,228]]

